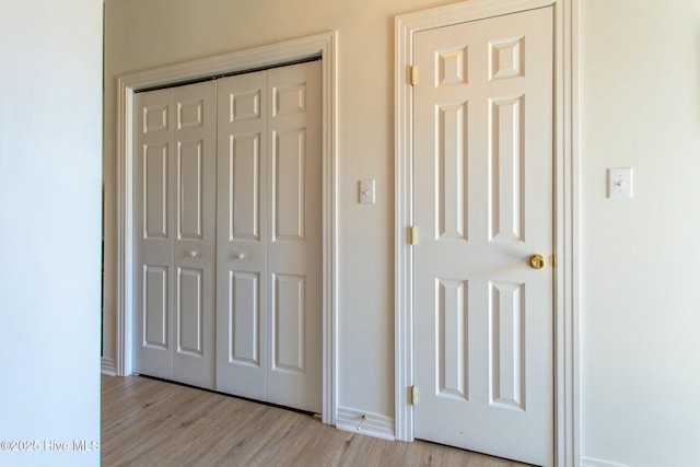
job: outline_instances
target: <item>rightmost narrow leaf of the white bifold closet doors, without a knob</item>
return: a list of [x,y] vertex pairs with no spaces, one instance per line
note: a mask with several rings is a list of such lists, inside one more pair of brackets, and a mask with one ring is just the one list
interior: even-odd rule
[[268,71],[268,280],[275,284],[267,400],[322,410],[320,62]]

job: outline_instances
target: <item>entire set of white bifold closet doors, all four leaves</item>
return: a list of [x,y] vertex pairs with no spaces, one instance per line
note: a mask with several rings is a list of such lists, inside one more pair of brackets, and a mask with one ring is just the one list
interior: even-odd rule
[[133,135],[135,371],[320,412],[320,63],[139,93]]

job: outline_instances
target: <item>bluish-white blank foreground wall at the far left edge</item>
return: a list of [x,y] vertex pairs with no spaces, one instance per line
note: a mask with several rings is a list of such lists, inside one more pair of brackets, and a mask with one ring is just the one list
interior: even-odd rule
[[97,465],[102,2],[0,11],[0,466]]

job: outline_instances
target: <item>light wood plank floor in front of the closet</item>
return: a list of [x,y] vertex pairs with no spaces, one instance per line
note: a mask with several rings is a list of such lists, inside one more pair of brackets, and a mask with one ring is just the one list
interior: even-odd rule
[[101,450],[103,467],[525,466],[340,431],[303,413],[140,376],[102,376]]

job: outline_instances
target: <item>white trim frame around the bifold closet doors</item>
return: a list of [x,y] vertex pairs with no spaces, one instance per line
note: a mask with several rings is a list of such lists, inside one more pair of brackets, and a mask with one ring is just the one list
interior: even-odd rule
[[117,376],[132,373],[133,342],[133,94],[211,77],[269,68],[310,58],[322,60],[322,288],[323,413],[336,423],[337,324],[337,32],[234,51],[117,78]]

